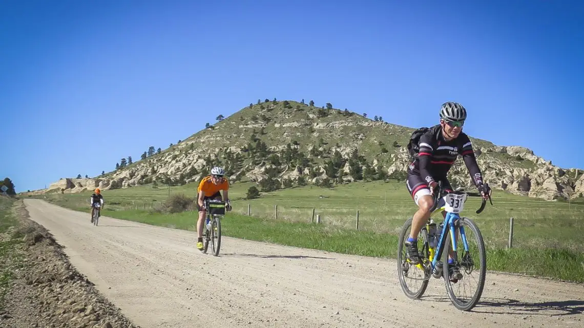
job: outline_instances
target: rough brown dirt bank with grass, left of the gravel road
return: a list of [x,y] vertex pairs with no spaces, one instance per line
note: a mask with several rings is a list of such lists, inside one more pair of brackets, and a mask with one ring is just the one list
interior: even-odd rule
[[19,202],[20,225],[0,239],[18,243],[8,266],[14,276],[6,294],[1,326],[6,327],[139,327],[107,301],[69,263],[62,247],[43,226],[28,217]]

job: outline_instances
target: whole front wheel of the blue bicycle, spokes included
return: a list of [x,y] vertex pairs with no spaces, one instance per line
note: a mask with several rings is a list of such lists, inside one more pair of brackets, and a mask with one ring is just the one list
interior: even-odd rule
[[[472,233],[472,238],[468,233]],[[448,253],[452,249],[452,240],[450,238],[450,230],[447,233],[447,240],[444,245],[443,261],[448,263]],[[465,240],[468,245],[468,253],[465,251]],[[485,287],[486,275],[486,252],[485,243],[482,239],[481,231],[477,224],[469,218],[460,219],[460,228],[458,228],[457,236],[457,253],[458,264],[463,278],[456,282],[450,281],[449,270],[444,266],[443,277],[446,284],[446,291],[453,305],[463,311],[471,310],[477,305],[482,295],[482,290]],[[477,266],[480,266],[477,268]],[[475,274],[478,277],[475,277]],[[477,284],[472,287],[472,284]],[[466,293],[473,291],[471,295],[460,295],[458,292]]]

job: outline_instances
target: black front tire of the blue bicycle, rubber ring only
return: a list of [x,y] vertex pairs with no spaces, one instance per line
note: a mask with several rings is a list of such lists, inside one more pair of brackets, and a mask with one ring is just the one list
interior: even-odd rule
[[[470,299],[469,302],[461,302],[454,295],[454,292],[452,290],[452,285],[450,282],[450,278],[449,278],[449,270],[447,270],[446,266],[444,267],[443,277],[444,277],[444,284],[446,285],[446,291],[448,292],[448,296],[450,298],[450,301],[453,303],[453,305],[457,309],[463,310],[463,311],[468,311],[477,305],[479,299],[481,299],[482,291],[485,287],[486,252],[485,252],[485,242],[482,238],[481,231],[478,228],[477,224],[475,224],[474,221],[472,221],[471,219],[466,218],[466,217],[461,217],[460,222],[463,226],[465,226],[465,228],[470,228],[472,233],[474,233],[474,235],[477,236],[477,239],[478,239],[477,240],[478,253],[479,253],[479,260],[478,261],[481,265],[481,268],[478,270],[479,271],[479,278],[478,278],[478,286],[477,286],[477,289],[475,290],[475,294],[472,296],[472,298]],[[448,263],[448,253],[450,251],[450,248],[452,247],[452,240],[450,239],[450,229],[447,233],[447,238],[448,238],[448,240],[450,240],[450,242],[448,242],[448,243],[446,243],[446,245],[444,245],[443,263]],[[462,243],[462,240],[460,240],[460,242]],[[464,278],[464,276],[463,276],[463,278]]]

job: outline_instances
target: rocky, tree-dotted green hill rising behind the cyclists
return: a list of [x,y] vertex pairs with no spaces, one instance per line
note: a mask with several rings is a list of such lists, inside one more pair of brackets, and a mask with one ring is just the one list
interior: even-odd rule
[[[266,99],[267,100],[267,99]],[[348,110],[304,102],[264,100],[191,135],[159,153],[152,146],[143,159],[94,179],[62,179],[42,192],[77,193],[142,184],[176,186],[198,181],[211,166],[223,166],[232,183],[250,180],[264,191],[354,181],[404,181],[406,145],[413,128]],[[330,105],[330,106],[329,106]],[[471,138],[491,186],[547,200],[581,197],[582,172],[561,169],[519,146],[502,147]],[[472,187],[463,161],[451,182]]]

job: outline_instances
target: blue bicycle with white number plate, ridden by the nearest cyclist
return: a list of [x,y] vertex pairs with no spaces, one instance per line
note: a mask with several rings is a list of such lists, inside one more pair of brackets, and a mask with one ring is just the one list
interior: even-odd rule
[[[399,235],[397,266],[399,283],[409,298],[419,299],[426,291],[430,277],[443,277],[450,301],[457,309],[468,311],[477,305],[485,285],[486,252],[478,226],[470,218],[460,216],[469,196],[481,197],[481,194],[467,193],[462,188],[446,191],[442,188],[442,182],[439,183],[437,192],[434,193],[434,206],[430,212],[436,215],[446,211],[446,217],[443,223],[436,226],[431,215],[420,231],[418,235],[420,263],[418,264],[407,260],[404,244],[409,236],[413,218],[409,218],[402,227]],[[492,205],[490,197],[489,201]],[[485,205],[486,200],[483,199],[477,214],[484,210]],[[474,238],[468,238],[469,232],[474,235]],[[444,263],[447,263],[446,270],[444,270]],[[450,275],[454,267],[460,270],[456,278]],[[474,277],[474,274],[478,277]],[[412,280],[412,282],[408,283],[406,280]],[[466,282],[477,282],[477,287],[467,287]],[[465,295],[457,295],[460,291]],[[471,292],[471,294],[466,295],[466,292]]]

